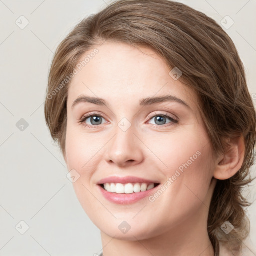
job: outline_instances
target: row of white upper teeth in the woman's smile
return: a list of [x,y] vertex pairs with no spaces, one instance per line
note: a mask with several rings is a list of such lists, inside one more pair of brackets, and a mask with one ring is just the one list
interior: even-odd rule
[[111,193],[138,193],[154,188],[154,183],[105,183],[104,188],[106,191]]

